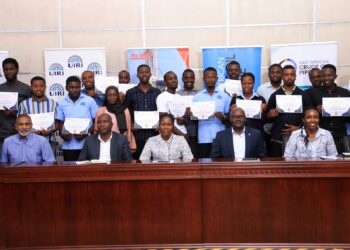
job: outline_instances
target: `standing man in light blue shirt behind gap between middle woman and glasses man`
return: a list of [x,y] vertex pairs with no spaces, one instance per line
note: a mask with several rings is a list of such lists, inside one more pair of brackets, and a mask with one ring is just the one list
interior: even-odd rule
[[215,102],[214,117],[208,120],[200,120],[198,123],[198,148],[199,157],[208,158],[211,152],[211,146],[216,133],[224,130],[224,121],[227,119],[226,114],[230,110],[231,98],[224,92],[215,89],[218,80],[217,71],[213,67],[204,70],[203,81],[205,89],[193,97],[193,102]]

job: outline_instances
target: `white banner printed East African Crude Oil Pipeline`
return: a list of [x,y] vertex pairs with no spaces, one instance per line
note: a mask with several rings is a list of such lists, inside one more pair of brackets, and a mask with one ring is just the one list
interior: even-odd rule
[[325,64],[337,66],[337,42],[271,45],[271,64],[287,64],[296,68],[295,84],[306,89],[311,86],[309,71]]

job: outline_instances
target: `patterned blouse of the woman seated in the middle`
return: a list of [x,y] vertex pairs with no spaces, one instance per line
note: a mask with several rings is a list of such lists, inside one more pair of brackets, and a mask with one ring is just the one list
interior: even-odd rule
[[193,155],[183,136],[171,135],[165,141],[160,135],[148,139],[140,156],[141,161],[192,160]]

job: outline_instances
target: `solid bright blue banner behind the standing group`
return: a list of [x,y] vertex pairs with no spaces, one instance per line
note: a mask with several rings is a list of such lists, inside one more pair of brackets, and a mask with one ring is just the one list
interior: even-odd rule
[[226,65],[235,60],[241,65],[241,75],[251,72],[255,76],[254,90],[260,85],[262,46],[202,48],[203,70],[214,67],[218,71],[218,83],[226,79]]

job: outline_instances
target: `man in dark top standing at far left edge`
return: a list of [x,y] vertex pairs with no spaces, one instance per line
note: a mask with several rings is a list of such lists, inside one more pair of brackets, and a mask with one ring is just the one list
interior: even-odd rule
[[17,80],[19,67],[16,59],[5,59],[2,62],[2,68],[6,82],[0,84],[0,92],[16,92],[18,93],[18,99],[16,100],[15,109],[10,109],[10,107],[6,107],[3,104],[0,107],[0,152],[4,140],[17,133],[15,123],[18,103],[31,96],[30,87]]

